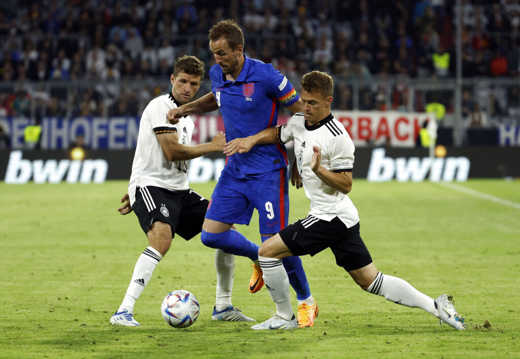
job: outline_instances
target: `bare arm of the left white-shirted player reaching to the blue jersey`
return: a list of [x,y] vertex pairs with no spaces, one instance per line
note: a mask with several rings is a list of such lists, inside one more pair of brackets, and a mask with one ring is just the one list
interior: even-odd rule
[[220,152],[226,146],[226,136],[222,131],[216,134],[211,142],[194,146],[179,144],[176,133],[159,134],[157,139],[161,144],[164,156],[171,162],[191,160],[211,152]]

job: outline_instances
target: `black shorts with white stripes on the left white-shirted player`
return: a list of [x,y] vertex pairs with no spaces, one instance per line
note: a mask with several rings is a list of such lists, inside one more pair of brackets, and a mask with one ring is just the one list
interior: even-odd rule
[[178,234],[189,240],[201,232],[208,203],[191,189],[171,191],[146,186],[136,188],[132,209],[145,233],[152,223],[164,222],[172,227],[172,238]]

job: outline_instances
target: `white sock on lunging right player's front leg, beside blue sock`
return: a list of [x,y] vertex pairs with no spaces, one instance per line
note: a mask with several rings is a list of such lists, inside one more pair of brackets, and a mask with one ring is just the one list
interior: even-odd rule
[[289,277],[281,259],[258,256],[264,272],[264,282],[272,301],[276,303],[276,314],[290,320],[294,316],[289,295]]

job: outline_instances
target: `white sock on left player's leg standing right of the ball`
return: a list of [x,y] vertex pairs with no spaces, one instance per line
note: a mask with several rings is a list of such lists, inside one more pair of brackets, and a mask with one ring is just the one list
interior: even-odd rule
[[231,305],[231,291],[235,278],[235,255],[215,250],[215,270],[217,271],[217,295],[215,310],[223,311]]

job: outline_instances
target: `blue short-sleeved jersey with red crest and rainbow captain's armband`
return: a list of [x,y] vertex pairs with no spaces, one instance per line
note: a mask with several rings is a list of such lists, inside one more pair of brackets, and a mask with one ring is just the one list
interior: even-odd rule
[[[237,81],[226,80],[218,65],[211,67],[210,79],[228,142],[276,126],[279,104],[291,106],[300,98],[291,82],[270,63],[245,55]],[[287,151],[280,144],[256,145],[247,153],[228,157],[226,162],[229,172],[239,178],[278,170],[287,164]]]

